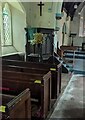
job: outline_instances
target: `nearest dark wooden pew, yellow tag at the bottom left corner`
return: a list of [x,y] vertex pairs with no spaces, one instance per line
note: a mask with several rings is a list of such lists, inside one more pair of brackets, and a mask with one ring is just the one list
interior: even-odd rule
[[0,114],[2,114],[2,120],[14,118],[31,120],[31,98],[28,88],[17,96],[0,94],[1,97]]

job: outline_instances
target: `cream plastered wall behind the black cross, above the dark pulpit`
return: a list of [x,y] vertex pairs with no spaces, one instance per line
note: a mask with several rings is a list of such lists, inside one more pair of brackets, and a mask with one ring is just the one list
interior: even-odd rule
[[30,3],[28,14],[30,16],[30,23],[29,17],[27,18],[27,22],[31,27],[54,28],[55,3],[45,2],[42,8],[42,16],[40,16],[40,8],[38,4],[38,2]]

